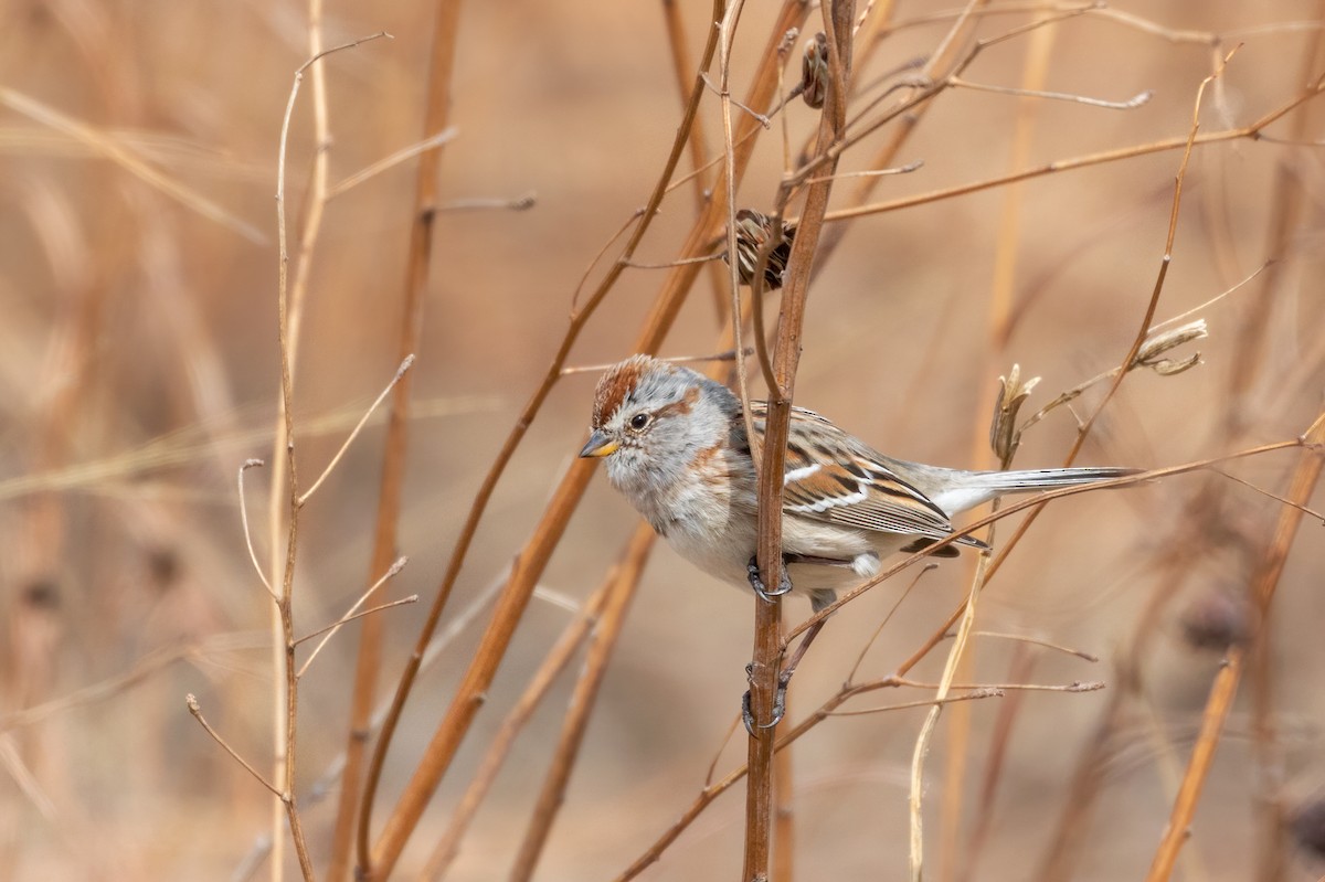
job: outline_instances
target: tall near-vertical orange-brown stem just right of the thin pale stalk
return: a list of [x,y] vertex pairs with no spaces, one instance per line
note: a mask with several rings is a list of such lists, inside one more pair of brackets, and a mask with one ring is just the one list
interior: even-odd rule
[[[456,42],[460,30],[460,0],[437,4],[432,58],[428,73],[428,97],[424,111],[423,140],[437,142],[419,160],[415,180],[413,216],[409,225],[409,252],[405,264],[405,287],[401,298],[400,336],[398,358],[412,358],[423,336],[423,311],[427,302],[428,278],[432,270],[433,226],[439,176],[441,173],[441,136],[447,132],[450,113],[450,81],[456,61]],[[378,487],[378,515],[372,536],[372,556],[367,581],[378,580],[391,567],[398,554],[400,527],[400,499],[404,490],[405,453],[409,434],[409,379],[396,383],[391,396],[387,437],[382,453],[382,483]],[[355,820],[360,810],[359,783],[363,777],[370,719],[376,703],[378,678],[382,669],[382,642],[386,624],[380,616],[371,616],[359,633],[359,653],[355,661],[354,693],[350,699],[350,724],[346,736],[346,765],[337,804],[335,833],[331,840],[331,861],[327,877],[333,882],[344,879],[350,871],[350,854],[355,841]],[[429,634],[431,637],[431,634]],[[367,814],[368,809],[363,809]],[[359,825],[359,862],[366,861],[367,818]]]

